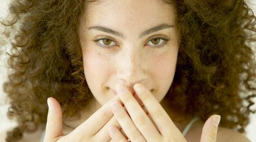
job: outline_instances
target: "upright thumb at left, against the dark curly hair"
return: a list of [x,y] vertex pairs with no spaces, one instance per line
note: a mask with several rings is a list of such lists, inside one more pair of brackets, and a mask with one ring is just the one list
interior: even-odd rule
[[43,141],[52,142],[58,137],[63,136],[63,119],[60,104],[53,97],[47,99],[48,116],[46,123],[46,135]]

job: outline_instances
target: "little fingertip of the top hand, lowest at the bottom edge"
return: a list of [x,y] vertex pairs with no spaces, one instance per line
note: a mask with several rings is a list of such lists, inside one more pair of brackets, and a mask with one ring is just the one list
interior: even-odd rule
[[127,138],[119,131],[119,129],[115,126],[110,126],[108,128],[108,132],[110,133],[110,137],[112,138],[111,141],[124,141],[127,142]]

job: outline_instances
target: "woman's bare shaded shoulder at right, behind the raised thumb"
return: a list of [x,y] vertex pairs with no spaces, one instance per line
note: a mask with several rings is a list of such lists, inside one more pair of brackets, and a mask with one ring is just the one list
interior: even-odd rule
[[[203,122],[196,122],[191,127],[191,130],[188,131],[186,135],[186,139],[189,142],[198,142],[201,138],[201,133],[203,129]],[[218,128],[217,133],[217,142],[226,142],[226,141],[232,141],[232,142],[247,142],[250,140],[243,135],[242,133],[238,133],[237,131],[234,131],[232,129],[226,129],[223,127]]]

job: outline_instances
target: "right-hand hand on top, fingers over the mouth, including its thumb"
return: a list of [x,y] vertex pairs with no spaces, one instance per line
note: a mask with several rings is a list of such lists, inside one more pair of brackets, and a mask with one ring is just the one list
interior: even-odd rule
[[[135,84],[134,91],[146,107],[149,115],[144,112],[132,93],[124,85],[117,85],[117,95],[126,109],[120,102],[112,103],[114,116],[129,141],[186,141],[181,131],[178,130],[149,90],[142,84]],[[220,116],[210,116],[203,126],[201,142],[216,141],[219,121]],[[112,141],[127,141],[127,137],[115,126],[110,126],[109,133]]]

